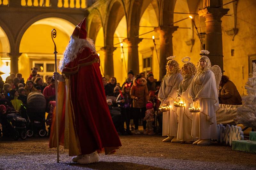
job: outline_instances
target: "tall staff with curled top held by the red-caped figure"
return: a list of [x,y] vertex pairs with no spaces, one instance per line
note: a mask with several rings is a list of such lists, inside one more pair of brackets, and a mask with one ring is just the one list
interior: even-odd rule
[[[52,41],[54,43],[54,52],[55,55],[55,72],[57,72],[57,48],[56,44],[53,40],[53,38],[56,38],[56,30],[52,29]],[[56,143],[57,143],[57,163],[59,163],[59,121],[58,121],[58,80],[55,80],[55,100],[56,100]]]

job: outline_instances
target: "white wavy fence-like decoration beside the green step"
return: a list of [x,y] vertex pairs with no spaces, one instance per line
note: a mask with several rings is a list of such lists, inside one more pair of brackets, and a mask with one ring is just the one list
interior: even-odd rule
[[244,132],[240,126],[223,126],[223,124],[217,125],[218,131],[218,143],[226,143],[226,145],[232,145],[234,140],[244,140]]

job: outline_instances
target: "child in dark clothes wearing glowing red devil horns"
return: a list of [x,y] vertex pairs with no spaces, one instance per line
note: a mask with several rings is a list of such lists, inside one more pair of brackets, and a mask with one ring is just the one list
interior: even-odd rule
[[119,92],[117,96],[116,103],[121,108],[123,126],[124,122],[126,124],[126,133],[128,135],[132,135],[130,130],[130,119],[131,119],[131,107],[132,107],[132,99],[130,96],[131,83],[126,83],[123,87],[123,91]]

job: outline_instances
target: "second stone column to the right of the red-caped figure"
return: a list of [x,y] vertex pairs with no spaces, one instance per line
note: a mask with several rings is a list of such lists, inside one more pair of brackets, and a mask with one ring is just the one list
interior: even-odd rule
[[140,73],[139,70],[139,54],[138,54],[138,44],[142,41],[142,38],[130,37],[124,39],[124,42],[128,45],[128,66],[127,72],[132,70],[134,76]]

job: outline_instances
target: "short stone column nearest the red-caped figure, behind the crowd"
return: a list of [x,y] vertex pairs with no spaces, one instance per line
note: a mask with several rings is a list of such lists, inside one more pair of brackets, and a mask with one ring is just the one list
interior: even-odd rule
[[105,46],[100,48],[101,51],[105,53],[104,60],[104,76],[107,78],[114,76],[114,63],[113,63],[113,52],[116,50],[116,47]]

